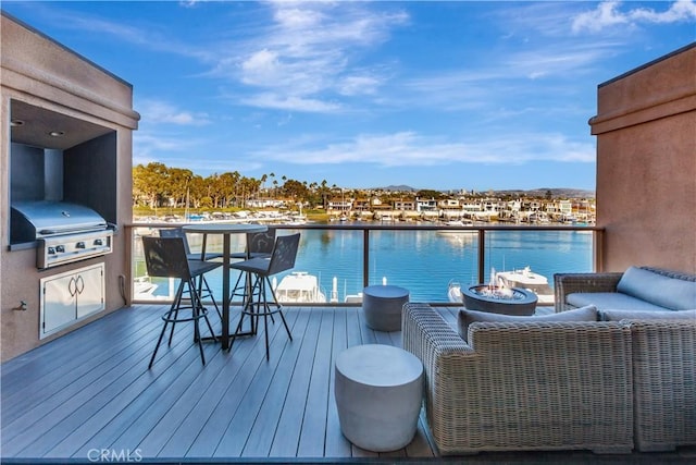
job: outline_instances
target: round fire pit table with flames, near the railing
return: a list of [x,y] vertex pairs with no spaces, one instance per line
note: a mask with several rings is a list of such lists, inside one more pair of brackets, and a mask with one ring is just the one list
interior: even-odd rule
[[474,284],[461,287],[464,307],[470,310],[505,315],[533,315],[537,296],[520,287]]

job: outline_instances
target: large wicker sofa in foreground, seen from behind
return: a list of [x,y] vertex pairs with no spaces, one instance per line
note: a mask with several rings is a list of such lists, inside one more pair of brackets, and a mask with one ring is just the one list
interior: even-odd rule
[[687,314],[475,322],[468,344],[432,307],[410,303],[402,340],[423,362],[426,417],[443,455],[666,451],[696,445],[696,318]]

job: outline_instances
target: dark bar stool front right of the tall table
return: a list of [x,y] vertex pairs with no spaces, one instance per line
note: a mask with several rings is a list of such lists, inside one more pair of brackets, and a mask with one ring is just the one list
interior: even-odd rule
[[[277,301],[275,291],[273,290],[273,285],[271,284],[270,277],[293,269],[295,267],[295,259],[297,258],[299,242],[299,233],[277,236],[275,238],[273,252],[271,253],[271,258],[257,257],[231,265],[231,268],[235,268],[239,271],[249,273],[251,279],[253,280],[250,287],[251,293],[249,295],[249,298],[247,298],[245,306],[241,309],[241,316],[235,331],[235,336],[241,332],[241,325],[244,322],[245,316],[249,316],[252,334],[256,334],[257,332],[259,317],[263,317],[263,327],[265,330],[264,335],[266,360],[270,358],[268,323],[269,317],[273,317],[273,315],[278,314],[281,316],[281,319],[283,320],[283,325],[285,326],[285,331],[287,332],[288,338],[290,339],[290,341],[293,340],[293,334],[290,334],[290,329],[287,326],[287,321],[285,321],[285,316],[283,315],[283,307]],[[271,291],[272,301],[269,301],[268,298],[269,290]],[[235,336],[233,336],[229,344],[231,348],[232,344],[235,341]]]

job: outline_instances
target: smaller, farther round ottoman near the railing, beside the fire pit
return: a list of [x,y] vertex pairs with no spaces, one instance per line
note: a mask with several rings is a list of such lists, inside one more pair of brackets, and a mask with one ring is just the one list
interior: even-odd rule
[[401,307],[409,302],[409,291],[398,285],[369,285],[362,290],[365,322],[377,331],[401,329]]

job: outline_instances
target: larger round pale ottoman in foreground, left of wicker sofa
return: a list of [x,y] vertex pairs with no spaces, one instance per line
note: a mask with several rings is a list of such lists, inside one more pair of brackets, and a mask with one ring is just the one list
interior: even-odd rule
[[334,394],[344,436],[374,452],[408,445],[423,397],[423,364],[382,344],[356,345],[336,358]]

